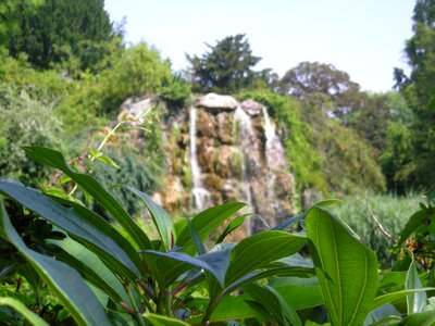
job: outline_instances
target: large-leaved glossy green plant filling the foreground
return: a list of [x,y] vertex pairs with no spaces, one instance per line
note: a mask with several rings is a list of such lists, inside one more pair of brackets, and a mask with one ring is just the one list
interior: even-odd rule
[[[113,226],[83,203],[0,181],[0,193],[8,198],[9,208],[5,210],[4,199],[0,199],[0,237],[8,250],[14,251],[10,258],[29,264],[34,275],[48,285],[54,300],[64,304],[78,324],[188,325],[236,318],[246,324],[303,325],[319,321],[362,325],[364,321],[390,318],[390,314],[373,312],[407,298],[414,300],[410,304],[419,300],[419,305],[411,304],[405,317],[430,317],[424,314],[424,291],[433,288],[424,287],[430,285],[423,280],[426,276],[419,274],[414,263],[406,267],[406,280],[393,280],[395,289],[388,288],[391,283],[378,283],[374,252],[325,209],[336,200],[321,202],[285,223],[299,221],[306,233],[265,230],[238,243],[213,246],[210,233],[245,204],[210,208],[173,224],[147,195],[129,188],[146,203],[158,231],[151,240],[107,189],[90,176],[71,170],[61,153],[36,147],[26,151],[38,162],[60,168],[119,223]],[[425,210],[432,218],[433,208]],[[67,237],[42,243],[47,254],[36,252],[23,241],[25,233],[11,223],[16,221],[16,212],[32,212],[38,221],[53,224]],[[307,243],[313,262],[298,254]],[[5,247],[1,250],[0,263],[7,268],[2,267],[0,280],[9,274],[9,278],[25,277],[35,286],[29,274],[12,271],[12,261],[4,263]],[[229,296],[238,289],[244,294]],[[288,296],[289,289],[293,294],[303,296],[303,300],[296,302],[295,296]],[[15,299],[23,301],[20,298]],[[16,300],[9,303],[18,306]],[[32,306],[25,309],[21,304],[17,309],[34,316],[28,311]],[[396,319],[402,317],[397,310],[393,315]]]

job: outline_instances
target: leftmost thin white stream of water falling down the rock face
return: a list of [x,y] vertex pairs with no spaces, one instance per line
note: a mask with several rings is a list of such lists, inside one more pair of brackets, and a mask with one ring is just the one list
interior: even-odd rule
[[190,167],[192,178],[194,195],[194,209],[196,211],[202,211],[209,203],[210,192],[202,186],[201,181],[201,168],[198,164],[197,158],[197,109],[190,108],[190,121],[189,121],[189,136],[190,136]]

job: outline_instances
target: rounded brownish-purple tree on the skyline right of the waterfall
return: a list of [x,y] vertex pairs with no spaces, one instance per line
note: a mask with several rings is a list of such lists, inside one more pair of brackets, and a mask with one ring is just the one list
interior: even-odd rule
[[319,62],[301,62],[287,71],[278,83],[278,92],[300,101],[314,93],[326,95],[334,102],[336,110],[332,113],[338,118],[360,108],[362,101],[360,86],[347,73]]

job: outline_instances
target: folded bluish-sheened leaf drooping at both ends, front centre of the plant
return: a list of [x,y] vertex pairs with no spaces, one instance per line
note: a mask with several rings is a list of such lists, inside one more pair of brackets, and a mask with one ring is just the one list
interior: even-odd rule
[[225,273],[229,263],[231,250],[214,251],[199,256],[191,256],[184,252],[144,251],[147,262],[162,287],[169,286],[183,273],[192,267],[210,272],[223,286]]

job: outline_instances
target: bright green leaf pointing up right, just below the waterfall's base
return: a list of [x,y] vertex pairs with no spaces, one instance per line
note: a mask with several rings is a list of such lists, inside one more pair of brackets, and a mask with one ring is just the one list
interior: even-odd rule
[[[246,204],[243,202],[228,202],[210,208],[196,215],[191,220],[191,224],[198,233],[201,241],[204,242],[211,231],[245,205]],[[195,244],[191,242],[190,231],[187,224],[185,224],[184,228],[179,231],[175,244],[182,247],[184,252],[195,252]]]

